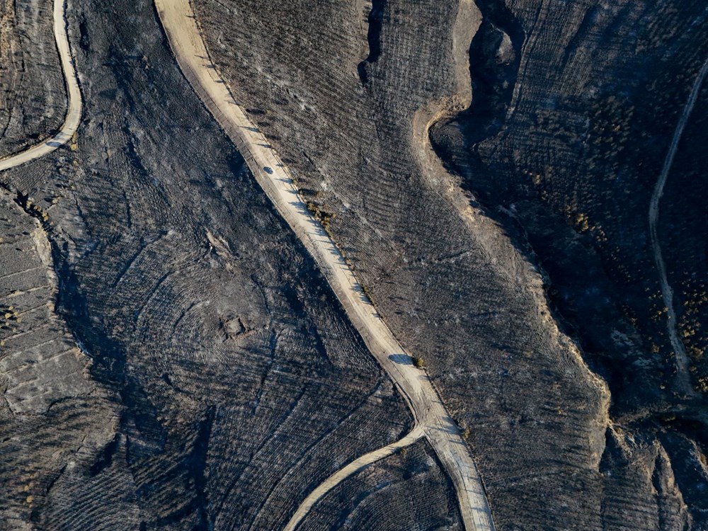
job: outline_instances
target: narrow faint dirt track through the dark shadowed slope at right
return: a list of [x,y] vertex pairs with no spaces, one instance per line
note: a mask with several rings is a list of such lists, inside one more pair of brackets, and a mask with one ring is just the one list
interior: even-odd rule
[[659,217],[659,201],[663,195],[664,185],[666,185],[666,179],[668,178],[668,173],[673,164],[673,158],[678,150],[678,143],[681,140],[681,135],[683,135],[683,130],[686,127],[688,118],[691,115],[693,106],[696,104],[698,99],[698,93],[700,92],[701,85],[705,79],[706,74],[708,74],[708,59],[703,63],[703,67],[698,72],[698,76],[693,83],[693,88],[688,96],[688,101],[683,107],[683,113],[681,113],[681,118],[678,120],[676,129],[673,132],[673,138],[671,139],[671,144],[666,154],[666,159],[664,159],[663,168],[659,174],[658,181],[654,187],[654,192],[651,195],[651,204],[649,205],[649,234],[651,234],[651,247],[654,253],[654,261],[656,262],[656,268],[659,272],[659,280],[661,280],[661,296],[663,297],[664,306],[666,306],[666,328],[668,329],[668,336],[671,341],[671,346],[673,347],[673,352],[676,357],[676,370],[680,378],[680,382],[685,387],[685,391],[692,393],[693,389],[690,384],[690,376],[688,374],[688,357],[686,355],[686,350],[678,338],[678,322],[676,321],[676,312],[673,306],[673,290],[668,283],[668,278],[666,277],[666,264],[663,261],[663,256],[661,255],[661,244],[659,243],[658,231],[656,229],[656,224]]

